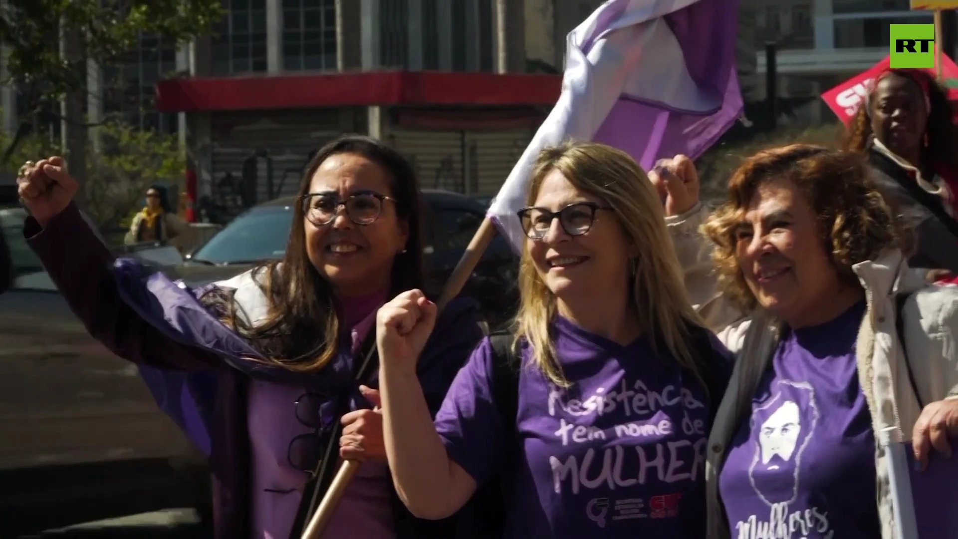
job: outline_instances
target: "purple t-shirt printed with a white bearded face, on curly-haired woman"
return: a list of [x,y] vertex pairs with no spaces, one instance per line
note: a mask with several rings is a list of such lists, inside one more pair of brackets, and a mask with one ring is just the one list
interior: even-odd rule
[[858,384],[856,304],[789,331],[732,440],[719,493],[732,537],[880,537],[875,434]]

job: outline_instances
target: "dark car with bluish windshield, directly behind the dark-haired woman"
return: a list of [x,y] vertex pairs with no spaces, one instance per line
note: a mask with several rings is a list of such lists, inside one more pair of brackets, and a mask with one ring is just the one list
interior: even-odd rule
[[[424,190],[422,199],[423,254],[430,292],[438,294],[485,219],[486,207],[448,191]],[[251,208],[190,254],[187,262],[167,273],[196,287],[237,275],[263,260],[282,258],[294,203],[295,199],[288,197]],[[496,236],[462,292],[479,301],[490,326],[498,326],[513,315],[517,301],[516,269],[517,259],[509,244]]]

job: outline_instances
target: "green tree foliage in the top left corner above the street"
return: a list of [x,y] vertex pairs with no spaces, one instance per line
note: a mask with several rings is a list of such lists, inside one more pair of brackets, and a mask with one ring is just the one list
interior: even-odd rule
[[[185,43],[209,34],[223,16],[220,0],[6,0],[0,41],[8,47],[14,82],[58,96],[85,82],[85,61],[102,65],[127,59],[140,33]],[[79,50],[59,54],[59,31],[75,30]]]

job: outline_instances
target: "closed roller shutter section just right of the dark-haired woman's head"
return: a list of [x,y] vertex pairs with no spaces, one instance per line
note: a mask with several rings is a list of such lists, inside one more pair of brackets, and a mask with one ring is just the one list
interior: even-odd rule
[[415,167],[420,187],[466,193],[463,131],[393,129],[389,139]]

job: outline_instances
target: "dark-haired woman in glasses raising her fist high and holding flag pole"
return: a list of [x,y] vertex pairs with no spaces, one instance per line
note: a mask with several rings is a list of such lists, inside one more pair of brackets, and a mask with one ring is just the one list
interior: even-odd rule
[[[90,334],[157,367],[148,378],[166,387],[154,395],[188,432],[209,426],[217,538],[298,539],[337,450],[364,463],[324,537],[454,536],[456,522],[418,520],[399,503],[371,410],[376,310],[423,286],[419,191],[398,152],[362,136],[331,142],[303,177],[283,260],[199,291],[114,262],[71,202],[77,182],[60,158],[27,163],[18,183],[32,214],[24,233]],[[415,368],[430,413],[482,337],[470,300],[451,302],[438,325]]]

